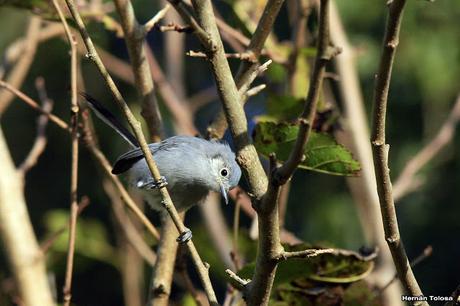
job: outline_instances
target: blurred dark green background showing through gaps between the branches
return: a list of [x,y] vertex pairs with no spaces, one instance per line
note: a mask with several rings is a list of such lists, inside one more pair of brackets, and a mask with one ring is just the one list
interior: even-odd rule
[[[232,23],[229,7],[232,1],[215,2],[217,9]],[[357,49],[357,63],[368,114],[371,111],[374,74],[380,56],[385,21],[384,1],[338,1],[345,29]],[[160,6],[156,1],[135,1],[140,21],[146,21]],[[115,13],[112,13],[116,17]],[[22,36],[30,16],[28,10],[0,6],[0,56],[15,39]],[[235,23],[236,24],[236,23]],[[460,1],[408,1],[397,51],[390,89],[387,141],[391,144],[391,175],[396,178],[406,162],[437,132],[460,93]],[[89,25],[92,38],[98,45],[117,57],[127,60],[122,39],[106,31],[100,23]],[[290,39],[291,30],[287,12],[283,8],[276,23],[275,33],[280,41]],[[148,42],[160,64],[168,56],[164,38],[152,32]],[[186,37],[186,50],[198,49],[192,35]],[[38,76],[46,80],[49,96],[55,101],[54,113],[69,121],[69,57],[63,39],[55,38],[40,44],[35,61],[21,89],[38,99],[34,81]],[[230,60],[236,69],[238,60]],[[83,59],[86,91],[109,105],[122,118],[110,94],[91,62]],[[138,113],[136,91],[129,84],[116,80],[124,96]],[[186,94],[213,86],[212,76],[205,61],[185,59]],[[270,85],[270,83],[269,83]],[[276,87],[269,91],[278,90]],[[248,116],[264,113],[266,93],[262,93],[247,107]],[[215,100],[201,108],[196,124],[201,132],[219,107]],[[162,106],[166,121],[167,110]],[[3,131],[11,154],[19,164],[35,138],[37,114],[19,100],[15,100],[1,118]],[[167,122],[168,133],[172,125]],[[127,149],[123,141],[100,122],[96,122],[101,147],[113,161]],[[59,224],[66,222],[69,203],[70,138],[53,126],[47,129],[48,145],[38,164],[27,174],[25,195],[34,228],[41,240]],[[416,257],[427,245],[433,246],[433,255],[418,265],[415,274],[422,290],[430,295],[450,295],[460,283],[460,136],[423,169],[423,186],[397,205],[401,235],[410,258]],[[82,148],[79,168],[79,195],[88,195],[91,205],[80,217],[81,235],[77,244],[74,272],[73,301],[76,305],[121,305],[123,303],[119,258],[115,230],[109,213],[109,199],[105,196],[101,173],[88,152]],[[231,225],[233,209],[223,208]],[[219,285],[218,293],[225,291],[218,257],[210,248],[198,209],[190,211],[186,223],[193,230],[197,247],[205,260],[213,263],[212,278]],[[242,227],[248,228],[249,219],[242,218]],[[364,244],[353,200],[343,177],[298,171],[293,179],[286,228],[311,243],[327,242],[341,248],[357,249]],[[65,236],[49,251],[49,270],[54,272],[60,294],[65,270]],[[103,254],[103,256],[101,256]],[[213,259],[214,258],[214,259]],[[146,270],[146,279],[150,275]],[[9,275],[0,252],[0,283]],[[103,285],[101,285],[103,284]],[[5,286],[3,286],[5,287]],[[8,305],[0,288],[0,305]]]

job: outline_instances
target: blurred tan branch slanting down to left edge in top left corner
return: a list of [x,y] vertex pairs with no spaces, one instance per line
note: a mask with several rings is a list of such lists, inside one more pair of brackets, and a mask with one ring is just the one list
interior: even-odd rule
[[[37,50],[41,23],[41,17],[35,15],[30,17],[27,34],[24,40],[26,42],[25,48],[21,53],[19,61],[15,64],[6,79],[6,82],[10,83],[13,87],[20,88],[29,72],[29,68],[35,58],[35,51]],[[11,92],[0,91],[0,115],[5,112],[13,98],[14,95],[11,94]]]

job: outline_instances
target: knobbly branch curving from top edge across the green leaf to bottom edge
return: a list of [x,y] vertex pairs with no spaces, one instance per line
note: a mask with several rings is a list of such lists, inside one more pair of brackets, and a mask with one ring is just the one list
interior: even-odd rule
[[324,77],[326,63],[337,54],[337,49],[329,46],[329,0],[322,0],[318,30],[317,55],[310,79],[305,107],[299,119],[300,128],[297,140],[288,160],[276,168],[276,157],[270,156],[271,176],[268,191],[262,204],[256,206],[259,215],[259,250],[256,269],[245,295],[248,305],[267,304],[278,258],[283,254],[279,237],[278,198],[280,187],[292,176],[303,159],[303,152],[311,132],[316,114],[316,105]]

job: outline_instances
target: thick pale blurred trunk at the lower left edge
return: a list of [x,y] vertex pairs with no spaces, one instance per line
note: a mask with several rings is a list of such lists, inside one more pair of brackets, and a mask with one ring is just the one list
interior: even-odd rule
[[55,305],[45,257],[35,237],[24,199],[23,176],[9,154],[0,126],[0,239],[25,306]]

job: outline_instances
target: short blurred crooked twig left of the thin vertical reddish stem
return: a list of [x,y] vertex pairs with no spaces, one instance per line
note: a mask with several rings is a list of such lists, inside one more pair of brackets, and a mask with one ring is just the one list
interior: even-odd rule
[[[42,102],[42,109],[51,113],[53,110],[53,100],[49,99],[46,94],[45,89],[45,80],[42,77],[39,77],[35,80],[35,86],[37,88],[40,100]],[[41,115],[37,119],[37,136],[35,137],[34,144],[32,149],[30,149],[29,154],[24,159],[22,164],[18,167],[18,171],[25,174],[29,171],[38,161],[40,155],[45,151],[46,147],[46,126],[48,125],[49,117],[47,115]]]

